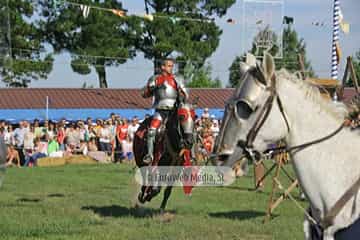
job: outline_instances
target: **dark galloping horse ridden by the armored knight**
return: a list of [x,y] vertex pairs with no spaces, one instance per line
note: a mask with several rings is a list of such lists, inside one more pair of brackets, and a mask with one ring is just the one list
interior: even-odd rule
[[[183,166],[185,157],[182,154],[183,150],[190,151],[193,145],[194,118],[192,105],[183,103],[169,116],[168,121],[163,123],[166,128],[161,126],[157,133],[153,166]],[[147,154],[146,135],[150,122],[151,118],[143,121],[134,136],[133,150],[139,168],[148,166],[143,162],[143,158]],[[138,200],[141,203],[149,202],[159,194],[160,190],[161,187],[143,185]],[[166,186],[160,206],[161,212],[165,210],[171,190],[172,186]]]

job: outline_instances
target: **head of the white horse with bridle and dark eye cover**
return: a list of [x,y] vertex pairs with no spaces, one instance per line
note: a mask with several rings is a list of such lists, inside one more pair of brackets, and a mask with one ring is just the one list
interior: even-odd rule
[[215,147],[220,164],[224,166],[233,166],[245,156],[246,148],[264,151],[269,143],[284,138],[289,130],[277,95],[271,55],[265,54],[262,64],[247,60],[241,63],[240,70],[242,83],[226,104]]

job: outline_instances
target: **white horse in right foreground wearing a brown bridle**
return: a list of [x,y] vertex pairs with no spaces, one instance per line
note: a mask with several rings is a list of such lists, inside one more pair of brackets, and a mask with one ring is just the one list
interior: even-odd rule
[[[249,62],[256,63],[256,59]],[[349,238],[341,235],[345,231],[339,231],[359,219],[358,186],[332,221],[322,224],[360,177],[360,135],[341,127],[345,107],[325,100],[317,88],[285,70],[275,75],[274,60],[268,54],[262,65],[242,63],[241,72],[243,83],[226,105],[215,147],[220,164],[233,166],[245,153],[259,155],[270,143],[285,139],[292,150],[296,176],[310,202],[310,219],[322,230],[317,238],[306,219],[306,239],[360,239],[360,235]],[[292,148],[299,145],[302,147]]]

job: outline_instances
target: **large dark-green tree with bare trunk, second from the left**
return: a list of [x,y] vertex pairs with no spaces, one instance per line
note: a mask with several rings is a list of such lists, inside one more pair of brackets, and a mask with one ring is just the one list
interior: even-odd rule
[[[136,54],[134,39],[125,17],[111,11],[90,9],[83,16],[78,5],[57,0],[40,0],[43,33],[55,52],[72,54],[71,67],[79,74],[89,74],[93,67],[98,75],[100,88],[107,88],[106,67],[118,66]],[[83,4],[121,10],[116,0],[84,0]]]

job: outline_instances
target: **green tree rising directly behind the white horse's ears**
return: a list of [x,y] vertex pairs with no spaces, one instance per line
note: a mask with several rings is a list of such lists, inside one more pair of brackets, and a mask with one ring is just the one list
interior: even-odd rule
[[[306,44],[303,38],[299,39],[297,32],[292,28],[293,21],[286,22],[286,27],[283,31],[283,57],[282,59],[275,59],[276,68],[281,69],[285,68],[290,72],[301,71],[300,64],[298,62],[298,55],[301,54],[304,62],[305,72],[307,76],[313,77],[314,71],[311,67],[311,63],[307,60],[306,57]],[[271,36],[276,42],[277,36],[271,29],[265,27],[264,30],[260,31],[258,35],[254,38],[254,42],[252,45],[252,49],[250,53],[254,54],[257,51],[257,55],[261,56],[264,50],[269,50],[265,48],[256,48],[255,41],[259,39],[259,37],[267,34]],[[274,44],[270,53],[274,56],[279,51],[279,46]],[[229,68],[229,87],[237,87],[240,84],[240,62],[245,58],[245,54],[240,57],[237,56],[232,62]]]

